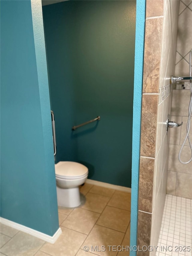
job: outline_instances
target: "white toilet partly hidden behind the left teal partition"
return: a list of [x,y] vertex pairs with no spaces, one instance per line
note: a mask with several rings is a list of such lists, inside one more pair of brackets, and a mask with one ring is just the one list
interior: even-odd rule
[[55,177],[58,206],[79,206],[81,204],[79,185],[85,183],[88,168],[76,162],[60,161],[55,164]]

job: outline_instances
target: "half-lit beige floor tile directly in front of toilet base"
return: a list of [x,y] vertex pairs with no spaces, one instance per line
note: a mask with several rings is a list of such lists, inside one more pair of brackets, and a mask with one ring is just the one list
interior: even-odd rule
[[85,209],[76,208],[71,214],[63,221],[61,226],[68,227],[70,229],[87,234],[91,231],[91,228],[95,225],[100,214],[91,212]]

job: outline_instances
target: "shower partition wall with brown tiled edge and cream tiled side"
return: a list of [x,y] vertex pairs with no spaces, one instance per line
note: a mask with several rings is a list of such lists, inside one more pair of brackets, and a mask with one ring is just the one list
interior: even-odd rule
[[[138,245],[157,245],[167,184],[167,115],[171,108],[179,1],[147,0],[140,148]],[[137,255],[149,255],[138,251]],[[154,255],[151,253],[150,255]]]

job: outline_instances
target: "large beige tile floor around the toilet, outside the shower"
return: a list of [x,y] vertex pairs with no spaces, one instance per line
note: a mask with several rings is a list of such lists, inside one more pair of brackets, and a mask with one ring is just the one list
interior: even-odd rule
[[[84,205],[58,207],[63,232],[55,244],[1,224],[0,256],[128,256],[125,250],[110,251],[107,246],[129,245],[131,194],[86,183],[80,191],[86,197]],[[85,245],[90,248],[88,252],[83,250]],[[98,248],[91,251],[91,245]]]

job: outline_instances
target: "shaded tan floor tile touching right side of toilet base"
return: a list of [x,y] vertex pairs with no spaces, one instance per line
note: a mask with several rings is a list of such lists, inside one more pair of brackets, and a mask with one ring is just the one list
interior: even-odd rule
[[101,213],[107,205],[107,203],[109,202],[109,200],[110,197],[105,197],[88,192],[86,194],[86,203],[83,206],[81,206],[81,208]]

